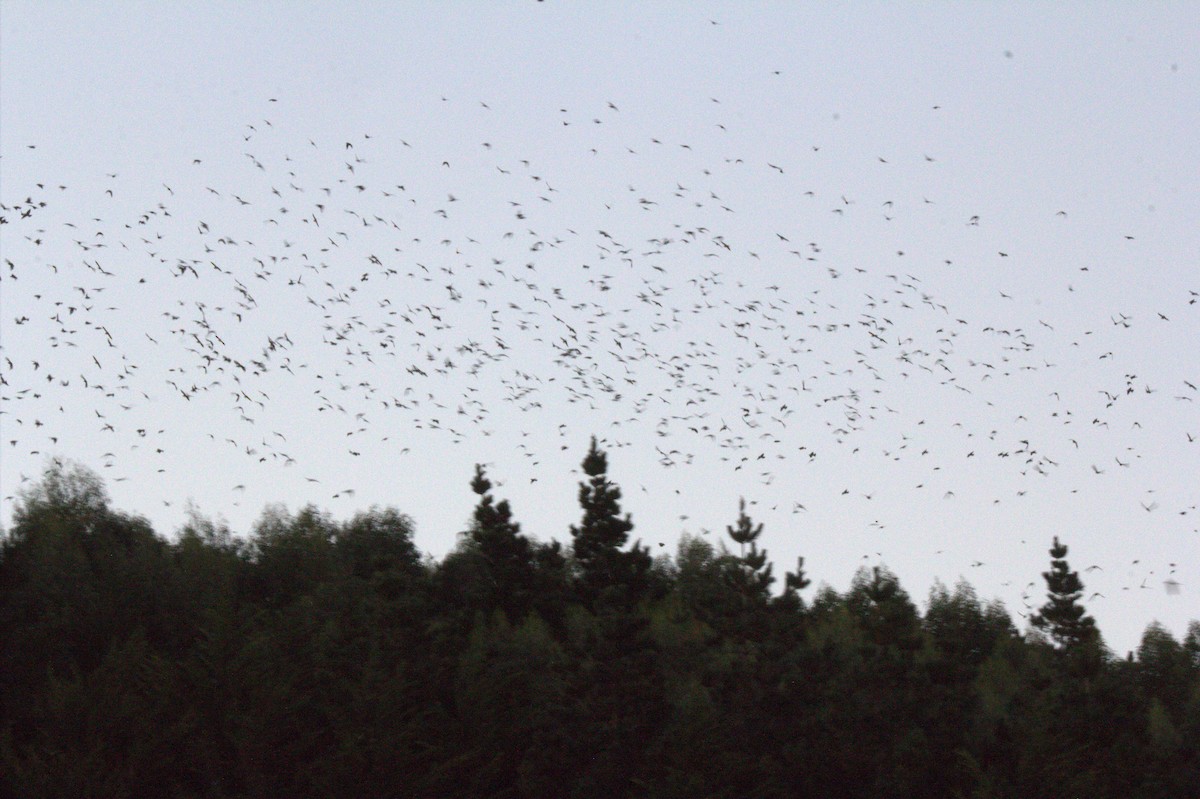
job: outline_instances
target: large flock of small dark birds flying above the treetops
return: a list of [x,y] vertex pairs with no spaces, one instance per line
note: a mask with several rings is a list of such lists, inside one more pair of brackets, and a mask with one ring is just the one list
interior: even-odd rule
[[[996,481],[992,504],[1078,492],[1153,459],[1163,419],[1195,422],[1166,433],[1200,451],[1200,364],[1147,374],[1130,343],[1200,331],[1200,283],[1150,316],[1067,329],[1056,308],[1084,301],[1088,265],[1031,277],[1014,264],[1034,256],[997,248],[985,216],[870,182],[936,175],[936,152],[862,155],[874,188],[839,191],[806,182],[820,142],[737,157],[719,98],[702,143],[640,136],[606,102],[562,109],[524,152],[488,137],[491,103],[440,102],[478,142],[311,140],[272,100],[233,154],[163,164],[154,184],[107,173],[79,196],[53,175],[6,181],[5,505],[37,476],[11,464],[78,453],[120,482],[132,464],[162,474],[214,452],[259,469],[230,479],[234,498],[282,470],[338,500],[355,487],[329,485],[330,463],[401,480],[436,459],[413,451],[416,431],[503,439],[530,482],[596,433],[653,447],[664,471],[710,464],[784,513],[881,491],[950,503],[978,493],[977,474]],[[36,164],[38,146],[5,158]],[[1068,224],[1070,210],[1043,216]],[[938,227],[967,263],[886,233],[876,257],[844,254],[863,230]],[[836,477],[833,461],[848,464]],[[859,482],[860,461],[890,485]],[[1148,487],[1139,501],[1194,531],[1198,499]],[[1139,578],[1123,588],[1181,585],[1174,561]]]

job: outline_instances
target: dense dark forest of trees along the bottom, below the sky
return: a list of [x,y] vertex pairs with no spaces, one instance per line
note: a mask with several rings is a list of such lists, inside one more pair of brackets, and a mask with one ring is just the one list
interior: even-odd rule
[[744,504],[724,543],[654,558],[594,440],[583,471],[564,546],[478,468],[437,561],[391,509],[164,537],[52,465],[0,549],[0,789],[1196,795],[1200,623],[1110,653],[1063,542],[1020,632],[965,582],[922,613],[882,567],[844,594],[803,559],[776,581]]

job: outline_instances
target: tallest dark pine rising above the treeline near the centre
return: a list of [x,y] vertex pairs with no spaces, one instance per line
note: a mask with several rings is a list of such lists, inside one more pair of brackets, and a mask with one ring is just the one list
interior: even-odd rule
[[608,481],[607,471],[608,458],[593,437],[583,458],[588,481],[580,483],[583,521],[571,525],[580,599],[593,608],[601,596],[624,595],[636,601],[649,590],[649,551],[638,543],[629,551],[622,548],[634,522],[629,513],[620,515],[620,488]]

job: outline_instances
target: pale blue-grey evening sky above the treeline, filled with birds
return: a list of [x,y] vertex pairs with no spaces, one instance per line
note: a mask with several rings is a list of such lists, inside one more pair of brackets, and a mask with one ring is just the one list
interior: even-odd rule
[[1117,654],[1200,618],[1200,8],[0,4],[0,518],[50,458],[188,509],[474,464],[569,541],[968,581],[1054,536]]

